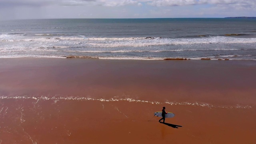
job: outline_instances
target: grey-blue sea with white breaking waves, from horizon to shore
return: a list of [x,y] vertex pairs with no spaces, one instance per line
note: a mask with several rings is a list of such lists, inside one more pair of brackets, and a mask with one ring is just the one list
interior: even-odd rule
[[256,60],[256,19],[0,21],[0,58]]

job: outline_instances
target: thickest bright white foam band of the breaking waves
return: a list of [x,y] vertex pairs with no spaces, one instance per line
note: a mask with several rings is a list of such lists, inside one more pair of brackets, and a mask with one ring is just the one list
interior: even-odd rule
[[[26,42],[86,42],[88,46],[94,47],[122,47],[122,46],[162,46],[162,45],[188,45],[188,44],[218,44],[218,43],[255,43],[256,38],[229,38],[229,37],[209,37],[209,38],[82,38],[75,36],[64,36],[63,34],[36,34],[42,36],[57,36],[49,38],[27,38],[16,35],[0,35],[0,41],[26,41]],[[62,36],[63,35],[63,36]],[[9,40],[9,41],[8,41]]]

